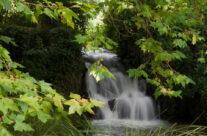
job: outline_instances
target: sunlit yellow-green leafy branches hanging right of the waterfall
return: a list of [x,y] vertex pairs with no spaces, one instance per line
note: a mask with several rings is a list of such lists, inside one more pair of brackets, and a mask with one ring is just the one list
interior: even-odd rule
[[[132,45],[124,46],[137,48],[138,53],[131,57],[138,56],[141,60],[138,68],[128,71],[129,75],[144,77],[154,85],[157,88],[154,92],[156,98],[160,95],[181,97],[181,90],[188,84],[195,84],[176,70],[174,64],[187,59],[185,50],[204,40],[199,29],[203,26],[204,15],[199,6],[195,8],[195,5],[202,4],[205,2],[190,0],[105,2],[108,6],[104,12],[105,32],[120,44],[123,39],[132,39]],[[126,52],[125,48],[121,48],[122,52]],[[205,62],[203,58],[198,58],[198,61]]]

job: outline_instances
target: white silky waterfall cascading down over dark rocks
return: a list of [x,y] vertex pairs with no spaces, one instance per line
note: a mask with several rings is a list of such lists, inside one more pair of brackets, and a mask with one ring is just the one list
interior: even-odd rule
[[[96,112],[95,124],[130,127],[159,125],[153,99],[146,96],[145,81],[130,79],[116,54],[102,49],[102,53],[90,51],[84,57],[88,69],[85,80],[89,97],[105,102],[104,108]],[[89,76],[90,66],[101,58],[116,80],[105,78],[97,83],[94,77]]]

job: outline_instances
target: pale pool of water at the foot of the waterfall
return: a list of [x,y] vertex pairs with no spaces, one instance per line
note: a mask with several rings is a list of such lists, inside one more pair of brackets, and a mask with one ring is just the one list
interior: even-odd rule
[[92,122],[97,132],[93,136],[145,136],[150,131],[163,126],[160,120],[132,121],[132,120],[94,120]]

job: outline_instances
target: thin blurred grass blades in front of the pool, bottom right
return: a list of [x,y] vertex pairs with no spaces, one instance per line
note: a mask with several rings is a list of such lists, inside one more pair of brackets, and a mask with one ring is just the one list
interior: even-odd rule
[[[118,132],[96,130],[94,136],[207,136],[207,126],[173,124],[152,129],[122,128]],[[113,128],[111,128],[113,130]]]

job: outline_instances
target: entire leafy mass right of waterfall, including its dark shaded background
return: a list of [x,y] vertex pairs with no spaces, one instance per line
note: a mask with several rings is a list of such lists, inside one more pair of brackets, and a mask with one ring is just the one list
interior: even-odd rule
[[88,27],[85,36],[76,38],[86,48],[105,47],[116,52],[129,69],[130,77],[146,79],[148,93],[159,98],[162,111],[168,109],[164,113],[167,118],[176,116],[192,121],[202,113],[204,123],[206,3],[106,0],[98,3],[103,22]]

